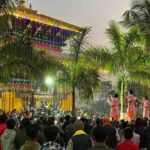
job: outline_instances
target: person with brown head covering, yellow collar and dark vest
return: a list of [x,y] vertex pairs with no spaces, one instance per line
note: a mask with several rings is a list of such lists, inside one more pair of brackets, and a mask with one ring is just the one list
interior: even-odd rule
[[84,125],[81,120],[74,123],[74,130],[75,133],[69,140],[67,150],[87,150],[91,148],[91,137],[84,132]]

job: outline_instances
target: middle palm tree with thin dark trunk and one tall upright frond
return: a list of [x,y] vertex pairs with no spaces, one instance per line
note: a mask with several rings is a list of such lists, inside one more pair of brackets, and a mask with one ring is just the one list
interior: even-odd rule
[[76,110],[76,90],[78,89],[83,99],[90,99],[96,89],[99,88],[100,75],[96,69],[88,67],[83,62],[83,52],[87,46],[87,38],[90,28],[84,28],[81,34],[74,36],[70,44],[70,54],[65,60],[65,69],[60,75],[61,81],[67,83],[72,94],[72,115]]

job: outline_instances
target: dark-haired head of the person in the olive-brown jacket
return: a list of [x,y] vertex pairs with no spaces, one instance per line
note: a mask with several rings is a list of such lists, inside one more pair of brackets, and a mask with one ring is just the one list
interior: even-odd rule
[[37,124],[31,124],[26,128],[26,134],[30,140],[37,141],[40,128]]

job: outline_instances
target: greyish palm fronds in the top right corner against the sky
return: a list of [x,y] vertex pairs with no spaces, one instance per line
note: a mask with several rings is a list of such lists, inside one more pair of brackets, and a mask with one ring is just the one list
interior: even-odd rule
[[139,26],[145,36],[146,48],[150,49],[150,0],[134,0],[131,9],[123,14],[121,23],[126,27]]

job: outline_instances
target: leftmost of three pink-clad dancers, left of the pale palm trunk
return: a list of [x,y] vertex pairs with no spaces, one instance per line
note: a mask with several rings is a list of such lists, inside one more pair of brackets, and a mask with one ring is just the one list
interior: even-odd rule
[[110,117],[116,121],[119,121],[118,94],[115,93],[114,97],[109,96],[109,100],[111,106]]

